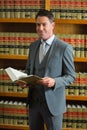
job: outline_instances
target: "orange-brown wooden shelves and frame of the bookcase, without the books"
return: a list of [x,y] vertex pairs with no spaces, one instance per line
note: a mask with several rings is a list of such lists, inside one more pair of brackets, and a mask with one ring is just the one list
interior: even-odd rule
[[[45,9],[50,9],[50,0],[45,0]],[[85,34],[87,35],[87,20],[84,19],[55,19],[56,28],[54,32],[60,34]],[[35,33],[35,19],[34,18],[0,18],[0,32],[31,32]],[[16,67],[17,69],[24,69],[26,65],[27,55],[8,55],[8,54],[0,54],[0,68],[6,68],[8,66]],[[15,62],[17,64],[15,65]],[[87,57],[75,57],[74,58],[76,72],[86,72],[87,73]],[[11,99],[27,98],[26,93],[13,93],[13,92],[0,92],[0,97],[3,99],[7,99],[8,97]],[[75,101],[75,102],[87,102],[86,96],[74,96],[68,95],[66,96],[67,101]],[[1,129],[15,129],[15,130],[28,130],[28,126],[19,126],[19,125],[8,125],[8,124],[0,124]],[[86,130],[79,128],[63,128],[63,130]]]

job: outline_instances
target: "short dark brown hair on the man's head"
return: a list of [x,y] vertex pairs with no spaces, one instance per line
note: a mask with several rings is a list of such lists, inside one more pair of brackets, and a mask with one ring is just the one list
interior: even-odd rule
[[49,10],[45,10],[45,9],[40,10],[40,11],[37,13],[35,19],[37,19],[37,17],[39,17],[39,16],[40,16],[40,17],[45,16],[45,17],[47,17],[47,18],[50,20],[51,23],[54,22],[54,16],[53,16],[52,12],[49,11]]

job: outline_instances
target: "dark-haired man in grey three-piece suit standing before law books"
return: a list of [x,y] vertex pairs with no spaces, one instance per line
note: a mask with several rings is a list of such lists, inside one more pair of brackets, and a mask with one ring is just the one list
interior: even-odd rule
[[[36,31],[39,39],[29,48],[26,65],[27,74],[42,77],[29,87],[29,126],[30,130],[62,130],[63,113],[66,111],[65,87],[75,80],[73,49],[59,40],[54,34],[54,17],[48,10],[36,15]],[[44,58],[41,45],[47,46]]]

